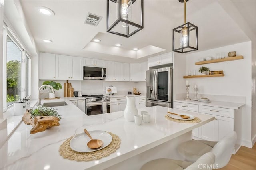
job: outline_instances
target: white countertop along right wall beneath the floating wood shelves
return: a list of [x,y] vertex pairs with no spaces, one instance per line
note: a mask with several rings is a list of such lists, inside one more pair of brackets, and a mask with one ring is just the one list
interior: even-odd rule
[[240,109],[240,107],[245,106],[245,103],[233,103],[224,101],[211,101],[211,102],[200,102],[195,100],[186,101],[185,99],[174,100],[174,102],[182,102],[196,105],[212,106],[212,107],[222,107],[227,109]]

